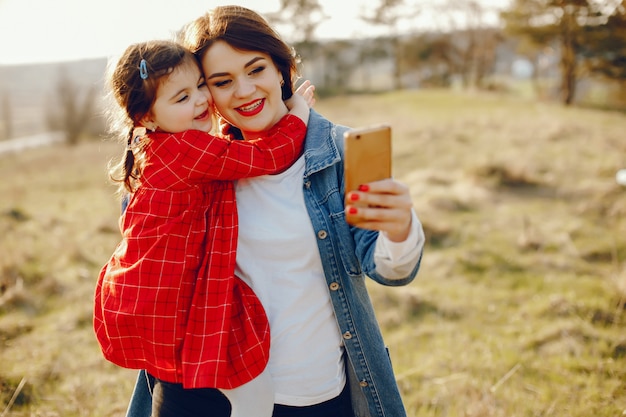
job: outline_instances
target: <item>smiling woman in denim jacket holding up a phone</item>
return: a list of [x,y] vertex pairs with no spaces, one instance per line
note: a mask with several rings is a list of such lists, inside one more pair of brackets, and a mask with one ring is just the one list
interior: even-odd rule
[[[257,13],[217,7],[185,29],[184,43],[202,62],[217,111],[244,139],[287,112],[296,61]],[[365,277],[411,282],[424,235],[408,188],[394,180],[344,196],[346,130],[311,111],[304,155],[236,186],[237,275],[270,322],[274,417],[406,415]],[[146,384],[137,389],[128,415],[148,416],[149,404],[136,401]],[[220,401],[207,396],[197,415],[216,415],[208,410]]]

